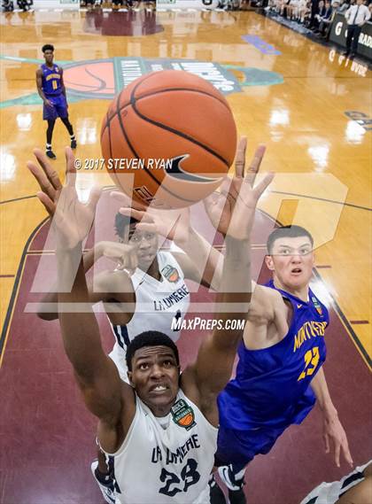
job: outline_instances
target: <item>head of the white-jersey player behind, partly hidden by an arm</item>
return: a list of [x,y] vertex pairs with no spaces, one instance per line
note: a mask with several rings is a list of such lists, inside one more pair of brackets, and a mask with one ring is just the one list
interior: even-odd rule
[[147,271],[159,249],[158,235],[136,229],[138,221],[122,213],[115,215],[115,231],[121,243],[127,242],[136,248],[138,267]]

